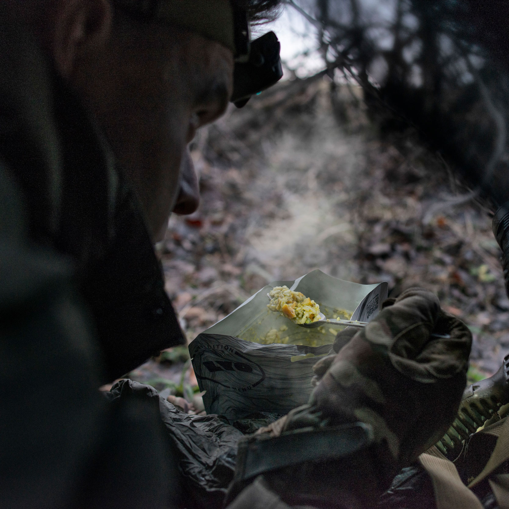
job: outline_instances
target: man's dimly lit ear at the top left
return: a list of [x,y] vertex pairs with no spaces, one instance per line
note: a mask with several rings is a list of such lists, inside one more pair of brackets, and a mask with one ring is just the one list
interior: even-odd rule
[[77,55],[107,40],[111,7],[108,0],[56,0],[52,21],[48,43],[56,69],[69,78]]

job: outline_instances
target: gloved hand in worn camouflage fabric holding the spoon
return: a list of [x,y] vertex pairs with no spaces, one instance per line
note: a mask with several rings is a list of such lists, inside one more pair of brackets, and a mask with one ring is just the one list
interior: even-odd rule
[[[323,376],[309,405],[290,412],[284,431],[369,423],[375,440],[390,451],[389,460],[404,466],[439,440],[454,420],[472,337],[427,290],[409,289],[386,304],[350,341],[338,339],[337,346],[344,346],[333,359],[317,363],[315,372]],[[431,332],[450,337],[436,338]]]

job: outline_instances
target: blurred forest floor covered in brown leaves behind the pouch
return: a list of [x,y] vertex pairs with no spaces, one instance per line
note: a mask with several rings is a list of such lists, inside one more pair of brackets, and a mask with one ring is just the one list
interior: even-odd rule
[[[318,268],[394,296],[429,288],[472,330],[470,379],[489,376],[509,352],[509,300],[488,211],[454,205],[467,190],[439,155],[384,136],[360,97],[328,78],[285,82],[196,139],[200,209],[173,216],[158,246],[188,341],[268,282]],[[130,376],[175,392],[164,380],[195,384],[185,358]]]

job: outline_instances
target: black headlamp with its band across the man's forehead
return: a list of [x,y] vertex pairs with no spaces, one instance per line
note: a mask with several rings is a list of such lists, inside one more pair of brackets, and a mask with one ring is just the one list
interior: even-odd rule
[[180,26],[231,49],[235,56],[231,101],[239,108],[283,75],[274,32],[251,41],[245,10],[230,0],[112,0],[130,17]]

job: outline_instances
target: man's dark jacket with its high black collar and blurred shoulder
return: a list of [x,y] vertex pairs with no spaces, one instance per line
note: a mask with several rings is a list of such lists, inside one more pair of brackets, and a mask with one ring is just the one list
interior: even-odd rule
[[98,391],[184,342],[161,268],[101,134],[2,16],[0,505],[166,506],[158,408]]

